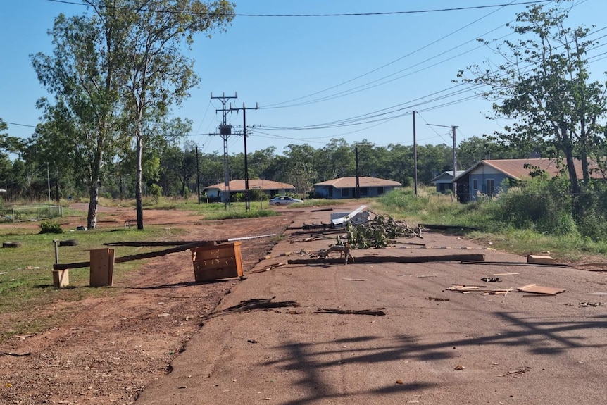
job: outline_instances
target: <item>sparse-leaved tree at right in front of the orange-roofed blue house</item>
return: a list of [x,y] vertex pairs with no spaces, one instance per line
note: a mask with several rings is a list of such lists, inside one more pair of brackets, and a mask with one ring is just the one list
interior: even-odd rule
[[[582,161],[584,180],[589,179],[587,158],[604,142],[601,119],[606,116],[604,82],[591,82],[586,53],[595,43],[586,27],[565,26],[565,0],[554,8],[527,6],[511,26],[517,41],[506,40],[496,51],[497,65],[471,66],[473,78],[463,82],[486,85],[483,95],[493,101],[494,115],[514,123],[497,132],[511,144],[546,142],[565,157],[571,192],[580,192],[574,159]],[[490,42],[485,42],[489,45]],[[603,156],[594,156],[602,161]]]

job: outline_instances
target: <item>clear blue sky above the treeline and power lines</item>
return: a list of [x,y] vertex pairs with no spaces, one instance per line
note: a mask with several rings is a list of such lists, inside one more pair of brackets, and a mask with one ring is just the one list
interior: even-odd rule
[[[78,3],[78,0],[73,0]],[[193,121],[189,139],[201,150],[222,151],[217,132],[221,104],[213,96],[234,96],[232,106],[247,111],[247,125],[259,125],[248,139],[248,150],[270,146],[282,153],[287,144],[323,147],[332,138],[352,143],[367,139],[376,145],[413,144],[411,111],[419,111],[419,144],[451,145],[448,127],[457,125],[458,142],[499,130],[506,122],[487,120],[491,104],[473,99],[471,92],[449,94],[458,70],[475,63],[501,61],[475,39],[500,39],[525,9],[524,0],[240,0],[237,18],[227,32],[208,39],[196,37],[189,56],[195,60],[199,87],[174,115]],[[253,17],[244,14],[334,14],[430,11],[508,4],[466,10],[334,17]],[[603,0],[572,1],[570,25],[596,25],[593,39],[607,31]],[[40,116],[36,100],[45,96],[32,68],[30,55],[51,52],[46,34],[58,13],[84,13],[86,8],[49,0],[0,1],[0,118],[9,134],[29,137]],[[511,35],[508,37],[514,39]],[[607,70],[607,49],[589,52],[596,79]],[[452,102],[452,103],[451,103]],[[450,104],[450,105],[444,105]],[[400,109],[400,111],[395,111]],[[375,121],[326,127],[325,123],[394,111]],[[242,125],[242,113],[229,117]],[[20,125],[15,125],[20,124]],[[320,126],[323,129],[303,129]],[[274,128],[284,128],[280,130]],[[288,129],[287,129],[288,128]],[[242,137],[229,139],[229,153],[243,151]]]

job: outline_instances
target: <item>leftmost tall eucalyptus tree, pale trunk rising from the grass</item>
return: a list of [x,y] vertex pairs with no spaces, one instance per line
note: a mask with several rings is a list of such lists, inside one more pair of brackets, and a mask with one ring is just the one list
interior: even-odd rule
[[89,228],[96,228],[104,162],[121,130],[116,75],[121,63],[117,50],[124,46],[118,33],[124,23],[118,13],[60,14],[49,30],[52,54],[31,56],[38,80],[54,96],[54,104],[43,98],[38,107],[44,110],[46,122],[59,118],[54,135],[69,133],[65,154],[82,159],[78,175],[86,178],[88,187]]

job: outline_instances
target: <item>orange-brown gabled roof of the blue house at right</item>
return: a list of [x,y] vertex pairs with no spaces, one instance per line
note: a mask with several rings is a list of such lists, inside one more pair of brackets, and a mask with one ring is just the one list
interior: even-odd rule
[[[557,159],[557,158],[550,158],[550,159],[549,158],[529,158],[529,159],[501,159],[501,160],[480,161],[479,163],[475,164],[468,170],[465,170],[463,173],[458,174],[453,179],[453,182],[457,182],[458,179],[460,179],[464,175],[470,173],[471,171],[475,170],[475,168],[477,168],[481,165],[491,166],[495,170],[500,171],[501,173],[510,177],[511,179],[522,180],[523,177],[529,177],[529,173],[532,172],[532,170],[534,170],[533,168],[525,168],[525,165],[535,166],[541,170],[544,170],[551,177],[554,177],[559,174],[559,171],[563,167],[565,167],[565,159],[564,158],[560,158],[560,159]],[[582,162],[575,160],[574,165],[575,165],[575,170],[576,170],[577,176],[579,178],[582,178],[583,177]],[[597,168],[596,164],[592,163],[592,162],[588,163],[588,167],[590,169]],[[602,178],[603,176],[600,173],[598,173],[598,172],[594,173],[594,171],[593,171],[593,173],[590,175],[590,177]]]

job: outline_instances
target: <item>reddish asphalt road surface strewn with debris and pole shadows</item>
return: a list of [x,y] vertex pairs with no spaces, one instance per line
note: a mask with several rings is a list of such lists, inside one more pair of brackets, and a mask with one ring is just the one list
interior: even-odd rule
[[[327,222],[325,217],[326,212],[302,212],[294,225]],[[526,261],[458,237],[423,236],[401,240],[425,247],[354,250],[353,264],[288,265],[247,274],[214,316],[203,320],[172,371],[146,387],[135,404],[607,404],[607,273],[458,262],[356,263],[357,256],[466,253],[485,254],[487,261]],[[300,239],[287,234],[272,254],[315,251],[330,242]],[[270,258],[256,269],[286,261]],[[484,277],[501,282],[482,282]],[[566,291],[537,297],[445,290],[530,283]],[[276,307],[243,310],[243,301],[254,299],[272,299]],[[377,310],[385,316],[320,309]]]

